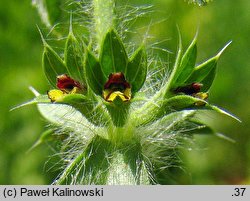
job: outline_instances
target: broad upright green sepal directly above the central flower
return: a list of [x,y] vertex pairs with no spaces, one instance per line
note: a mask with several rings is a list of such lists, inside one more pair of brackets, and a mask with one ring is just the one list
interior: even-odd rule
[[114,30],[109,31],[100,52],[100,64],[105,78],[107,79],[110,73],[125,73],[127,63],[128,56],[120,37]]

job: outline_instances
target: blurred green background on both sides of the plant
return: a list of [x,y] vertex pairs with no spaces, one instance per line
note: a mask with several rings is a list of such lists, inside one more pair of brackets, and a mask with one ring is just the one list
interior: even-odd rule
[[[214,136],[196,136],[181,155],[180,184],[250,184],[250,2],[214,0],[206,7],[182,0],[136,0],[155,5],[151,34],[172,51],[176,49],[176,24],[187,45],[199,27],[198,62],[213,56],[228,41],[218,74],[210,90],[210,102],[238,116],[238,123],[206,113],[209,124],[236,143]],[[50,184],[57,175],[55,154],[43,145],[27,152],[46,126],[35,106],[9,110],[33,97],[35,87],[46,93],[42,72],[42,43],[36,28],[42,26],[31,1],[0,1],[0,184]],[[171,61],[171,60],[170,60]]]

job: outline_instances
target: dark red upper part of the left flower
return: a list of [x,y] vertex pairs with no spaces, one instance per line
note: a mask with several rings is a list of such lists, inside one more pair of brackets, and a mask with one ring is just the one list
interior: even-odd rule
[[72,79],[66,74],[58,75],[57,76],[57,88],[62,91],[71,91],[74,89],[74,87],[77,87],[78,89],[83,89],[83,86],[80,84],[80,82]]

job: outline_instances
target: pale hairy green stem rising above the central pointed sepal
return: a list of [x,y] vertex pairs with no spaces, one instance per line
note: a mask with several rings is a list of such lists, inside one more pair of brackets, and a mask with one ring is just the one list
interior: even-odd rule
[[97,49],[100,50],[102,40],[109,29],[114,26],[114,0],[93,0],[94,24]]

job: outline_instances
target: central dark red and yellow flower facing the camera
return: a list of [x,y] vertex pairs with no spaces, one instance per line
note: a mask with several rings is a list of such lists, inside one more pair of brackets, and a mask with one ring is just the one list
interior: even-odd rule
[[118,97],[124,102],[131,99],[131,86],[122,72],[111,73],[103,90],[103,98],[108,102],[113,102]]

